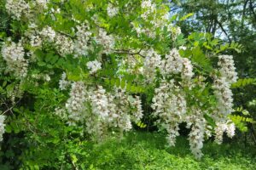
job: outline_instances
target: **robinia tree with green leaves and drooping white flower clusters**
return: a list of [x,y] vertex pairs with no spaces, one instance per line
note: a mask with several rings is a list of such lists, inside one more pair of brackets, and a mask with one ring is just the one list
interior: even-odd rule
[[[171,146],[186,122],[197,158],[205,139],[215,135],[220,144],[224,133],[234,136],[230,85],[237,76],[225,53],[237,46],[208,33],[183,37],[176,24],[188,16],[172,16],[168,3],[3,3],[9,28],[1,32],[1,140],[16,131],[30,144],[49,136],[54,144],[72,142],[57,132],[62,127],[79,129],[80,141],[122,135],[143,117],[142,94]],[[61,128],[48,131],[55,126]]]

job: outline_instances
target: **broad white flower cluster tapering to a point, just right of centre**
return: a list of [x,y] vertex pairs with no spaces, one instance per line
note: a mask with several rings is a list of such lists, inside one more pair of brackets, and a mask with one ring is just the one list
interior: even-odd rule
[[168,142],[175,144],[178,133],[178,124],[183,122],[187,110],[187,102],[182,90],[172,80],[160,82],[160,87],[155,89],[152,99],[154,116],[159,116],[159,123],[165,127],[168,133]]

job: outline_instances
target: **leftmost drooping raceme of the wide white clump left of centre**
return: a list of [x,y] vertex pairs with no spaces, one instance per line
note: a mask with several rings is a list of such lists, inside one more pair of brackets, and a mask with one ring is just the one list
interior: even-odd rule
[[66,108],[69,112],[70,124],[81,121],[81,114],[84,111],[85,87],[84,82],[73,82],[70,91],[70,98],[67,99]]

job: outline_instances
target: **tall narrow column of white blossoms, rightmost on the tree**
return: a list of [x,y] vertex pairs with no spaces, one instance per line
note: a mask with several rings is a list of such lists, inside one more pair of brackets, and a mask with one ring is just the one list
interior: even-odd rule
[[217,111],[213,118],[217,122],[215,127],[215,140],[218,144],[222,143],[224,132],[228,137],[232,138],[235,135],[235,124],[230,122],[227,116],[233,111],[233,94],[230,89],[231,83],[236,82],[237,73],[234,65],[234,60],[231,55],[219,55],[218,66],[220,66],[220,77],[216,77],[213,89],[218,100]]

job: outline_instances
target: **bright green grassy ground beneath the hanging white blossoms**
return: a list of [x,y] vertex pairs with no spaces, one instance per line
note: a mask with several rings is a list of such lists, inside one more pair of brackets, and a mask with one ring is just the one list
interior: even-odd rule
[[208,142],[203,158],[197,161],[187,139],[179,137],[177,146],[168,148],[165,137],[158,133],[129,133],[121,142],[109,139],[104,144],[90,145],[89,153],[90,169],[256,169],[255,150],[242,149],[239,144]]

